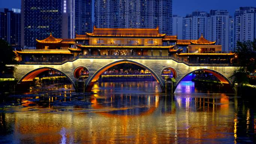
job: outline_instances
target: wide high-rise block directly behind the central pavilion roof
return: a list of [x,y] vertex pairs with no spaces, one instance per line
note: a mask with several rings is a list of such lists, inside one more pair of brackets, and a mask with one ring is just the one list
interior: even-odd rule
[[172,0],[95,0],[98,28],[156,28],[172,33]]

